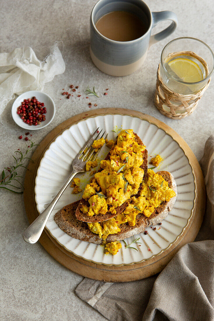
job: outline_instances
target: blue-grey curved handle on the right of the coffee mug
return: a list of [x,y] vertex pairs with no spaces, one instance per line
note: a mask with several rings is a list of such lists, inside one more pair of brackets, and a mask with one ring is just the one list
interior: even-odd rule
[[154,43],[160,40],[163,40],[169,35],[171,35],[171,33],[173,33],[174,30],[177,28],[178,18],[174,12],[172,11],[152,12],[152,21],[153,21],[152,28],[154,28],[159,22],[164,20],[172,20],[172,23],[166,29],[151,36],[149,41],[149,47],[154,45]]

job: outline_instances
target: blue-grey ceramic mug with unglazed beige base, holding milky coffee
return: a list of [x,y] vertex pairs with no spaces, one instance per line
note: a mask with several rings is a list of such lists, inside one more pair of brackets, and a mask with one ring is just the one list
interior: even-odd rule
[[[127,11],[135,14],[147,26],[147,32],[131,41],[115,41],[103,36],[95,27],[106,13]],[[172,20],[169,27],[151,36],[151,30],[159,22]],[[178,19],[172,11],[151,12],[142,0],[99,0],[90,17],[90,55],[94,65],[103,73],[126,76],[135,72],[146,59],[148,48],[168,37],[177,27]]]

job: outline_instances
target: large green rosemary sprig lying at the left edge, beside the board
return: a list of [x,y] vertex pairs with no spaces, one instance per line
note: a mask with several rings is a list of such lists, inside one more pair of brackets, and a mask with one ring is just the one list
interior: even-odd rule
[[[29,142],[31,142],[31,141],[29,141]],[[26,144],[26,146],[27,146],[27,150],[26,150],[26,152],[23,154],[21,151],[15,151],[14,152],[14,154],[15,154],[15,156],[13,155],[13,158],[14,158],[14,160],[15,160],[15,162],[16,162],[16,164],[15,164],[15,166],[13,166],[13,165],[10,165],[9,167],[4,167],[4,169],[3,169],[3,171],[2,171],[2,176],[1,176],[1,180],[0,180],[0,188],[4,188],[4,189],[6,189],[6,190],[8,190],[8,191],[10,191],[10,192],[13,192],[13,193],[23,193],[23,191],[21,190],[21,188],[23,188],[24,189],[24,187],[23,187],[23,185],[22,185],[22,183],[19,181],[19,179],[17,179],[17,178],[22,178],[22,176],[19,176],[18,175],[18,173],[17,173],[17,169],[18,168],[20,168],[20,167],[24,167],[24,168],[27,168],[26,166],[24,166],[23,165],[23,161],[25,160],[25,159],[29,159],[29,160],[31,160],[31,158],[30,157],[27,157],[26,155],[32,150],[32,148],[34,147],[34,146],[38,146],[37,144],[35,144],[35,143],[33,143],[33,142],[31,142],[31,145],[30,145],[30,147],[28,147],[28,145]],[[17,154],[16,153],[18,153],[18,156],[19,157],[17,157]],[[8,170],[8,172],[9,172],[9,174],[6,176],[5,175],[5,170]],[[15,181],[15,182],[14,182]],[[18,183],[20,186],[16,186],[16,185],[13,185],[13,184],[15,184],[15,183]],[[21,191],[14,191],[13,189],[11,189],[11,188],[8,188],[8,187],[14,187],[14,188],[16,188],[16,189],[19,189],[19,190],[21,190]]]

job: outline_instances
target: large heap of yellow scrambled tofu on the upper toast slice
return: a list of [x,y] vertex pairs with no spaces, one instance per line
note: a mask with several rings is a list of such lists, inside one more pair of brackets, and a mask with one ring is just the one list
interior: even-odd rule
[[[94,141],[93,147],[98,149],[103,141]],[[96,173],[92,183],[85,187],[83,198],[90,204],[89,216],[107,211],[116,214],[118,206],[138,193],[144,176],[144,170],[140,168],[144,151],[145,146],[135,141],[132,129],[118,134],[117,144],[110,151],[110,159],[101,161],[103,170]]]

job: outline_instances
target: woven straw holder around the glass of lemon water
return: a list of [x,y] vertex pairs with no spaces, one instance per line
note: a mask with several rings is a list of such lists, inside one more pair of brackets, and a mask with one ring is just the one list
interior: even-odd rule
[[[206,69],[206,66],[205,66],[205,69]],[[159,64],[157,68],[155,106],[157,107],[159,112],[165,115],[166,117],[169,117],[172,119],[180,119],[180,118],[187,117],[191,115],[192,112],[197,107],[198,102],[203,96],[204,91],[208,88],[210,84],[210,80],[211,78],[209,79],[205,87],[195,94],[190,94],[190,95],[178,94],[171,91],[163,83],[160,76],[160,64]],[[166,105],[168,108],[170,108],[170,111],[165,110],[163,105]],[[179,110],[179,112],[176,113],[177,110]]]

